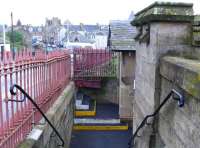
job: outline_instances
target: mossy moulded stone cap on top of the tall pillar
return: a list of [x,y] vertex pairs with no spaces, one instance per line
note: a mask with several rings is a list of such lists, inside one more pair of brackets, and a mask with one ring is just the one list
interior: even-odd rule
[[139,26],[153,21],[191,22],[193,20],[193,4],[155,2],[135,15],[131,22]]

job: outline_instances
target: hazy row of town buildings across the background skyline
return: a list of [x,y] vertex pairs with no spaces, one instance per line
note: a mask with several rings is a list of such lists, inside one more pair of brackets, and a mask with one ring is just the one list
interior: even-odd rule
[[[8,27],[7,31],[11,31]],[[73,25],[69,20],[63,24],[57,17],[46,18],[45,25],[23,25],[18,20],[14,31],[23,36],[23,48],[43,49],[51,51],[55,48],[107,48],[108,26],[88,25],[80,23]],[[19,48],[19,47],[18,47]]]

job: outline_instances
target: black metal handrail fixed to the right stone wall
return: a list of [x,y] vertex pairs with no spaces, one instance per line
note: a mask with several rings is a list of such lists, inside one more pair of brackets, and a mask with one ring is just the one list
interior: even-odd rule
[[138,126],[138,128],[136,129],[135,133],[133,134],[133,136],[131,137],[131,139],[129,140],[129,148],[134,147],[135,145],[135,138],[136,137],[140,137],[138,136],[138,132],[141,128],[144,127],[144,125],[151,125],[147,122],[148,118],[154,117],[156,116],[160,109],[165,105],[165,103],[171,98],[171,96],[175,94],[177,97],[173,96],[172,98],[176,101],[178,101],[178,106],[179,107],[183,107],[184,103],[185,103],[185,98],[183,97],[183,95],[181,95],[179,92],[177,92],[176,90],[172,89],[170,91],[170,93],[167,95],[167,97],[162,101],[162,103],[159,105],[159,107],[154,111],[153,114],[147,115],[145,116],[145,118],[142,120],[142,122],[140,123],[140,125]]

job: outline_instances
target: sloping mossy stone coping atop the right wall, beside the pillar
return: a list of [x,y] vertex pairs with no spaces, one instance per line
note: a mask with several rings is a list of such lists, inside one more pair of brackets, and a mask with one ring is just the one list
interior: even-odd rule
[[161,59],[160,74],[194,98],[200,99],[200,61],[165,56]]

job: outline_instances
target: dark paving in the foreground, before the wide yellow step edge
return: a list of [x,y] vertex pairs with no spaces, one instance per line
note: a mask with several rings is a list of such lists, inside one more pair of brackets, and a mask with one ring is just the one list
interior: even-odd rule
[[74,131],[70,148],[128,148],[132,130]]

